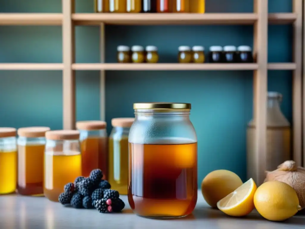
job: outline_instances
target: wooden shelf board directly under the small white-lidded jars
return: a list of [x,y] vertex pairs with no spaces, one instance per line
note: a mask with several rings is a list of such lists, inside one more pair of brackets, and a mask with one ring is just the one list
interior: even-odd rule
[[196,70],[256,70],[257,64],[72,64],[73,70],[113,70],[113,71],[196,71]]

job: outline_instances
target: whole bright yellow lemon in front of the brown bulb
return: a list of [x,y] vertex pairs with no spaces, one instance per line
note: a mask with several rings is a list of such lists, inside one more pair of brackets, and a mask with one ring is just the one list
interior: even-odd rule
[[254,206],[261,216],[271,221],[286,220],[301,210],[296,191],[281,181],[268,181],[258,187]]

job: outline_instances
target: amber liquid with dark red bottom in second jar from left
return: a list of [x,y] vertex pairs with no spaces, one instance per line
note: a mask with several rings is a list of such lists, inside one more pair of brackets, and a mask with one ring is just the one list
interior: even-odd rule
[[43,194],[45,145],[18,145],[18,193]]

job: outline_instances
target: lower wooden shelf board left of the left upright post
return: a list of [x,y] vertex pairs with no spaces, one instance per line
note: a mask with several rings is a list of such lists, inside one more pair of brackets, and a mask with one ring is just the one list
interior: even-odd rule
[[61,63],[0,63],[0,70],[62,70]]

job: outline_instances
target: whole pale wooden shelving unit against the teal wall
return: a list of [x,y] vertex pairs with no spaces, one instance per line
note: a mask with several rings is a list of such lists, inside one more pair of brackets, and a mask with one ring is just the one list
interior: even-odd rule
[[[0,13],[0,25],[61,25],[63,31],[63,63],[2,63],[0,70],[62,70],[63,71],[63,128],[75,127],[75,70],[101,71],[101,119],[105,119],[105,71],[191,71],[191,70],[251,70],[254,76],[253,108],[257,120],[256,150],[266,155],[267,71],[293,71],[293,157],[302,162],[302,27],[303,1],[293,1],[292,13],[268,14],[268,1],[254,0],[253,13],[74,13],[74,0],[62,1],[63,13]],[[105,24],[118,25],[254,25],[253,51],[255,64],[116,64],[105,63]],[[294,28],[293,63],[267,63],[268,24],[292,24]],[[78,64],[74,56],[76,25],[98,25],[101,31],[100,63]],[[304,40],[305,42],[305,40]],[[305,55],[304,55],[305,59]],[[305,62],[304,62],[305,64]],[[305,72],[304,72],[305,73]],[[305,87],[305,83],[304,83]],[[303,95],[304,96],[304,95]],[[303,97],[305,106],[305,96]],[[259,160],[259,158],[258,158]],[[305,165],[305,157],[304,157]],[[264,165],[261,165],[264,167]],[[264,174],[260,174],[261,177]],[[261,180],[257,178],[257,180]]]

